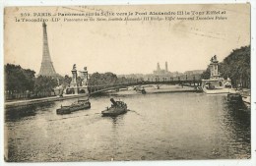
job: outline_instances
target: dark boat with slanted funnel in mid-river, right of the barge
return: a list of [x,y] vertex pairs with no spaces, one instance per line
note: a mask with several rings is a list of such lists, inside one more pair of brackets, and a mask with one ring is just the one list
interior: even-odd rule
[[127,105],[123,101],[115,101],[113,98],[110,98],[110,101],[111,107],[106,107],[104,111],[101,111],[102,116],[117,116],[127,112]]

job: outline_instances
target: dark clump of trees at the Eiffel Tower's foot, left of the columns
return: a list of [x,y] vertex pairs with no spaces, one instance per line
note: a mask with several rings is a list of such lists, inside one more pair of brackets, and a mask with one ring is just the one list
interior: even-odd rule
[[58,84],[57,80],[51,77],[35,78],[34,71],[23,69],[20,65],[7,64],[4,70],[7,99],[50,95]]

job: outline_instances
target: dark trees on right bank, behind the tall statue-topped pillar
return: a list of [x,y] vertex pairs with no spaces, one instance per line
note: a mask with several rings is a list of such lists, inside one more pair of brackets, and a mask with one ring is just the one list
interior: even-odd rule
[[[224,79],[229,78],[234,86],[250,88],[251,65],[250,65],[250,45],[243,46],[224,58],[219,65],[219,71]],[[201,75],[202,79],[210,79],[210,69]]]

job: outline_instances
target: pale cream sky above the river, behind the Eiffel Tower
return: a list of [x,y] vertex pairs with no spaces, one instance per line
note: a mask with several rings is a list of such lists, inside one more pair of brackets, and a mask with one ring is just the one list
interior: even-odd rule
[[71,75],[73,64],[76,64],[78,70],[87,66],[89,73],[151,74],[158,62],[164,69],[165,61],[170,72],[204,70],[212,56],[217,55],[222,61],[233,49],[250,44],[248,4],[7,8],[4,18],[4,63],[21,65],[36,74],[39,72],[42,23],[15,22],[22,13],[100,11],[225,11],[227,19],[76,23],[64,22],[62,17],[60,22],[46,23],[50,56],[57,73]]

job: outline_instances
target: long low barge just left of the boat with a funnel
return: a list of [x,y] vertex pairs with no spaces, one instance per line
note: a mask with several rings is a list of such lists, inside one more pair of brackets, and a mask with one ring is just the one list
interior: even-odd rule
[[77,102],[72,103],[68,106],[61,106],[59,109],[56,110],[57,114],[70,114],[74,111],[82,110],[82,109],[89,109],[91,108],[91,102],[89,99],[79,99]]

